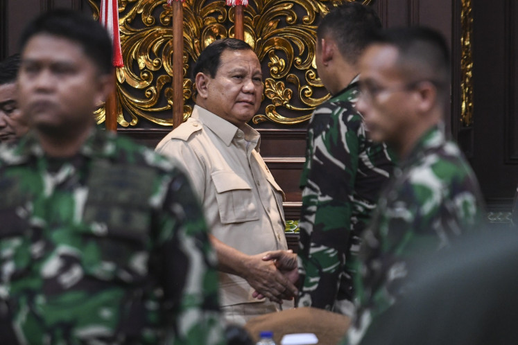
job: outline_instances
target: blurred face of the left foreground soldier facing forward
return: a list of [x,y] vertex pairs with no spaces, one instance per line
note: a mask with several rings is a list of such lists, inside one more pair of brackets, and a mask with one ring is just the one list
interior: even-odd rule
[[42,132],[89,130],[107,90],[106,78],[76,42],[35,35],[21,54],[19,107],[29,125]]

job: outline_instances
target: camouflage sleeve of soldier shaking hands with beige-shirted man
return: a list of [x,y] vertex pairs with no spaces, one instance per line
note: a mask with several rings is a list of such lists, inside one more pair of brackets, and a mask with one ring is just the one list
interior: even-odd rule
[[[331,310],[349,247],[354,182],[359,161],[359,122],[352,103],[327,105],[329,124],[313,140],[302,191],[299,306]],[[316,114],[315,116],[319,116]]]

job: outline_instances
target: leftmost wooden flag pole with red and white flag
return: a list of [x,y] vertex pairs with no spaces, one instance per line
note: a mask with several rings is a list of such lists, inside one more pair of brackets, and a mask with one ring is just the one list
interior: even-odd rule
[[119,3],[117,0],[101,0],[101,13],[99,21],[106,28],[113,42],[113,89],[108,94],[105,102],[105,127],[106,130],[116,132],[117,130],[117,91],[116,91],[116,72],[117,68],[123,67],[121,52],[121,37],[119,33]]

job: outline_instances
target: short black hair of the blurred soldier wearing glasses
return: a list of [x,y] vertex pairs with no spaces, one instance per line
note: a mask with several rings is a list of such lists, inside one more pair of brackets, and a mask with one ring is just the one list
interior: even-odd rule
[[424,26],[390,28],[375,33],[371,43],[395,47],[397,68],[408,76],[409,81],[429,80],[442,96],[449,95],[449,48],[437,30]]

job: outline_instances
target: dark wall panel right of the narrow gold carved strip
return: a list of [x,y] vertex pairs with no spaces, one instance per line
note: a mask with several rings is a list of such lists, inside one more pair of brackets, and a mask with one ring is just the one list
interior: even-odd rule
[[[474,152],[472,166],[490,207],[510,204],[516,154],[515,0],[474,0]],[[508,30],[514,28],[511,33]],[[511,54],[512,53],[512,54]],[[506,149],[507,148],[507,149]]]

